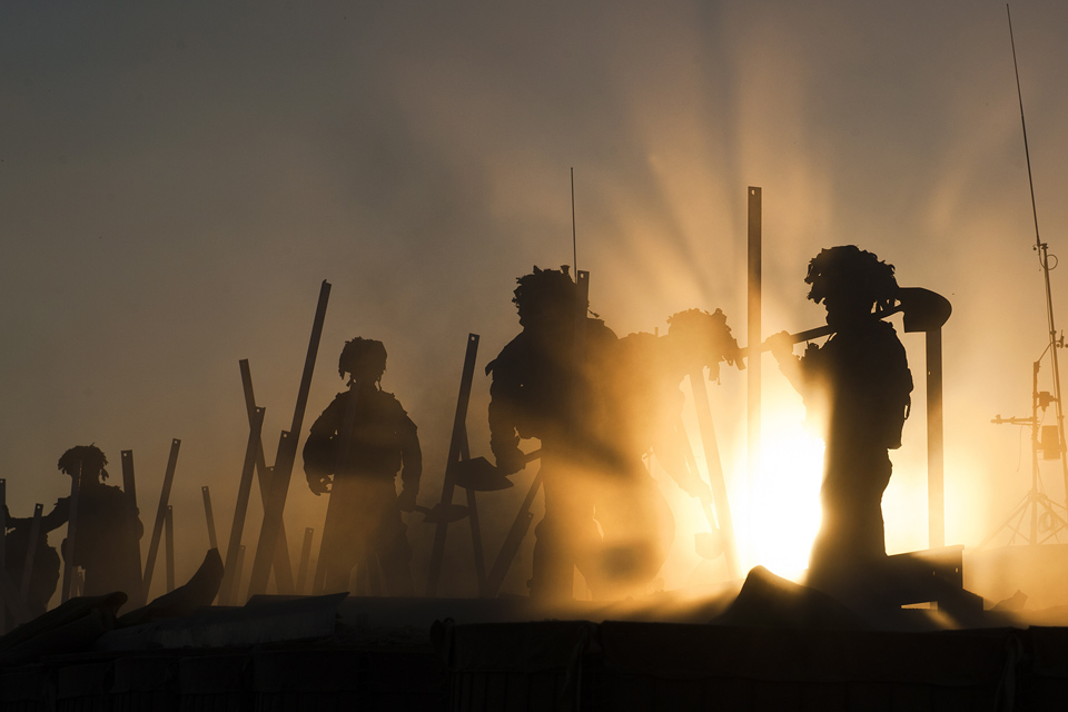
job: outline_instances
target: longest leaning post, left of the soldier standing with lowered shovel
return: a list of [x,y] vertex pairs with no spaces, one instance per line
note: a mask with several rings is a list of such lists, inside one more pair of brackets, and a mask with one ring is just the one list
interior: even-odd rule
[[323,280],[319,301],[315,309],[315,322],[312,325],[312,338],[308,342],[308,355],[304,362],[304,374],[297,392],[297,405],[293,413],[293,426],[288,433],[283,432],[278,455],[275,457],[275,474],[264,505],[264,523],[259,531],[256,556],[253,560],[253,574],[248,584],[249,595],[267,592],[267,580],[270,577],[270,564],[277,548],[275,543],[278,541],[278,532],[281,531],[281,516],[286,508],[286,496],[289,494],[289,478],[297,456],[297,443],[304,428],[304,411],[308,405],[312,374],[315,370],[315,358],[319,352],[319,338],[323,336],[323,323],[326,319],[326,305],[329,298],[330,283]]

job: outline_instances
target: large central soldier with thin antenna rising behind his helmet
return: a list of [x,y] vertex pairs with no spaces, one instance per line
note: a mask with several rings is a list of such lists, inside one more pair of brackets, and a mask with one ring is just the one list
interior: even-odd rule
[[521,438],[542,442],[545,514],[535,527],[531,595],[571,599],[575,567],[594,596],[644,593],[666,555],[670,512],[641,451],[621,441],[613,389],[631,386],[612,382],[619,339],[586,316],[566,268],[535,267],[517,283],[523,332],[486,373],[490,444],[502,473],[523,468]]

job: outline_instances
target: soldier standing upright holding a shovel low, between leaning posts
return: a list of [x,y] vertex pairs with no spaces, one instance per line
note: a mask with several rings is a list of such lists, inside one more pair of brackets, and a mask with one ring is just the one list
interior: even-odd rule
[[[320,554],[326,593],[348,591],[353,567],[377,558],[389,594],[413,595],[412,548],[400,513],[415,508],[423,453],[415,423],[392,393],[380,389],[385,370],[382,342],[358,336],[346,342],[338,373],[342,378],[350,375],[349,390],[337,394],[315,421],[304,446],[308,486],[317,495],[330,494]],[[342,434],[353,398],[353,428],[343,456]]]

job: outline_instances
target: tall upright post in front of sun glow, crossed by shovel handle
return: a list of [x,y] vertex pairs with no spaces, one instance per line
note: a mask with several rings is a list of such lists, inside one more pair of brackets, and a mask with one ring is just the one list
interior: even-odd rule
[[[761,189],[749,187],[749,299],[746,306],[746,340],[760,344],[763,340],[761,326],[762,293],[762,206]],[[755,349],[746,359],[745,414],[746,414],[746,463],[749,474],[749,517],[746,517],[746,542],[752,555],[753,528],[756,526],[756,498],[760,481],[760,400],[761,400],[761,350]]]

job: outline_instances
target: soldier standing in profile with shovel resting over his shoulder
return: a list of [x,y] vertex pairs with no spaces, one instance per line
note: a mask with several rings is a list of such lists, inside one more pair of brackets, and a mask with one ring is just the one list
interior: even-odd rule
[[893,306],[893,265],[852,245],[822,250],[809,263],[808,298],[822,301],[834,335],[793,355],[785,333],[773,337],[782,373],[823,424],[820,497],[823,523],[809,562],[815,587],[848,578],[886,560],[882,493],[890,482],[888,449],[901,446],[912,374],[904,347],[879,313]]

